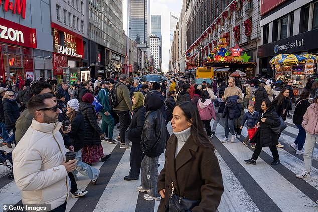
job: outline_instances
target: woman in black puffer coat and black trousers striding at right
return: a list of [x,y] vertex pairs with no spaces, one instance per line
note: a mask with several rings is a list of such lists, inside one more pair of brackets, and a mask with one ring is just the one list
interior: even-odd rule
[[276,145],[278,144],[279,135],[273,133],[271,128],[280,126],[280,119],[275,111],[275,107],[271,106],[269,99],[265,99],[261,102],[262,110],[259,112],[257,118],[257,126],[259,127],[254,137],[251,139],[251,143],[256,143],[251,159],[245,160],[246,163],[256,165],[256,160],[262,151],[263,146],[269,146],[270,151],[273,154],[272,165],[278,165],[280,163],[278,150]]

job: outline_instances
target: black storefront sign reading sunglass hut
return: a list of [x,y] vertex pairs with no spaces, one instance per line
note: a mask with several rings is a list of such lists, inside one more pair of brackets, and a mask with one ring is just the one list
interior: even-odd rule
[[301,33],[257,48],[257,57],[273,57],[278,54],[291,54],[318,48],[318,29]]

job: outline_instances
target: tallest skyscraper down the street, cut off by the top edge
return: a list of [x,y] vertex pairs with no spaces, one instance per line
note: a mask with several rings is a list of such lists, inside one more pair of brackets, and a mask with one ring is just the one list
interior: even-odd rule
[[140,37],[141,44],[147,44],[150,34],[150,0],[128,0],[128,32],[129,38]]

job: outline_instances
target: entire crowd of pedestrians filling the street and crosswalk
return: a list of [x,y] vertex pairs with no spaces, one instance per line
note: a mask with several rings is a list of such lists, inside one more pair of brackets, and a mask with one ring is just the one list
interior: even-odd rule
[[[313,127],[318,121],[318,92],[315,82],[311,85],[295,102],[292,81],[281,86],[273,99],[272,80],[257,78],[246,80],[242,87],[234,77],[199,85],[175,79],[170,85],[166,80],[140,83],[125,74],[118,81],[98,75],[95,81],[70,85],[41,78],[21,84],[18,92],[0,81],[0,136],[7,147],[15,144],[13,160],[11,153],[0,152],[0,162],[13,163],[23,203],[50,203],[54,211],[65,211],[69,195],[77,198],[88,193],[77,188],[77,173],[95,185],[100,171],[94,164],[111,158],[104,154],[102,141],[119,143],[120,148],[131,149],[130,171],[123,180],[140,177],[137,190],[146,192],[145,200],[161,200],[158,211],[174,207],[176,199],[190,202],[184,209],[215,211],[224,190],[211,140],[218,124],[224,128],[222,143],[238,142],[247,127],[249,136],[242,142],[249,146],[250,141],[255,150],[246,163],[256,165],[262,148],[269,147],[271,165],[278,165],[277,147],[284,147],[279,138],[295,102],[293,123],[299,133],[291,146],[305,160],[305,171],[296,176],[310,176],[318,139]],[[252,87],[257,88],[254,94]],[[114,131],[119,136],[114,137]],[[75,157],[66,161],[69,151]],[[165,165],[158,172],[164,152]]]

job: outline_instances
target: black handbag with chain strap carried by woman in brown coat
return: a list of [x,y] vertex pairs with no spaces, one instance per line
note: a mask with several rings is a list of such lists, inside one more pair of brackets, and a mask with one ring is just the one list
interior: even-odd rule
[[171,194],[169,197],[169,212],[186,212],[191,211],[192,208],[198,206],[200,200],[190,200],[183,198],[182,196],[178,196],[174,193],[174,183],[171,182]]

